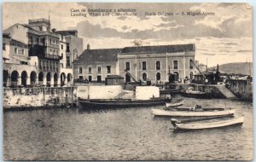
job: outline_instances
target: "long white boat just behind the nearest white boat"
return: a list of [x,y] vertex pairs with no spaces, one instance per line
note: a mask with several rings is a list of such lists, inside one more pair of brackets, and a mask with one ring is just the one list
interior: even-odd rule
[[166,116],[166,117],[216,117],[216,116],[232,116],[236,113],[235,109],[229,108],[224,110],[209,110],[209,111],[177,111],[163,110],[163,109],[151,109],[151,114],[154,116]]

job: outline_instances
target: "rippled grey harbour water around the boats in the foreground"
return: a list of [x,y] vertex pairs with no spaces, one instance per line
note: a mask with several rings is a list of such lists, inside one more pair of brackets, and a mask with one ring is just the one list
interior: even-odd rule
[[[177,96],[177,98],[182,98]],[[9,160],[252,160],[253,103],[184,98],[183,107],[234,107],[244,124],[174,133],[154,107],[85,111],[55,108],[3,113]]]

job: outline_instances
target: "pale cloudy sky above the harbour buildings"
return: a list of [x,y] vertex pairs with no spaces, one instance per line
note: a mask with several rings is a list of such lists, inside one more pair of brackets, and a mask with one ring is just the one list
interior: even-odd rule
[[[137,15],[71,16],[71,9],[136,9]],[[214,15],[186,15],[190,11]],[[3,3],[3,29],[49,16],[57,30],[77,29],[84,48],[87,43],[91,49],[123,48],[134,40],[195,43],[195,59],[209,67],[253,61],[252,9],[245,3]]]

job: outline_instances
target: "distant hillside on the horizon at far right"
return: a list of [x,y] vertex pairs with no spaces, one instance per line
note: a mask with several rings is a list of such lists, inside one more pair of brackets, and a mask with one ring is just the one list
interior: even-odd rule
[[[253,75],[253,63],[246,63],[246,62],[236,62],[236,63],[228,63],[219,65],[218,69],[221,72],[226,73],[241,73],[241,74],[250,74],[249,66],[251,67],[251,75]],[[216,67],[210,67],[209,69],[213,70]]]

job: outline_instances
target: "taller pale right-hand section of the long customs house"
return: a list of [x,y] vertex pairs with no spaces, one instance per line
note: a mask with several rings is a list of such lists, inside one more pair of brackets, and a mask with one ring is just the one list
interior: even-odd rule
[[118,60],[125,82],[134,82],[131,76],[137,81],[168,82],[170,74],[182,81],[195,72],[195,44],[125,47]]

